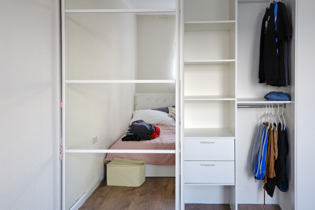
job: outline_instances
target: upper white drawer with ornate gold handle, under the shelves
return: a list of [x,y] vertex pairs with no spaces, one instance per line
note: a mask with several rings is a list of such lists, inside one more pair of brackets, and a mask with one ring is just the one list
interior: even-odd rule
[[185,139],[185,161],[234,161],[234,139]]

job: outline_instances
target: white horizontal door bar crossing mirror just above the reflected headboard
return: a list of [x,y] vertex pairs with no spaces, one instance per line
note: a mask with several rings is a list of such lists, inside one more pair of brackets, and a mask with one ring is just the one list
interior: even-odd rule
[[175,80],[66,80],[66,83],[175,83]]

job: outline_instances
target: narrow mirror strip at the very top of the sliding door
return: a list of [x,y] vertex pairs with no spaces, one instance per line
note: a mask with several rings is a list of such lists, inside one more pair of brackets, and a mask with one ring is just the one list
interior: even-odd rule
[[175,0],[66,0],[66,9],[173,9]]

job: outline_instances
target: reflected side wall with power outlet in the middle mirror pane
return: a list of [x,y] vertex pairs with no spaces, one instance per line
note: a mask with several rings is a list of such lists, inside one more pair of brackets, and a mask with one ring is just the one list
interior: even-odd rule
[[67,84],[66,148],[111,147],[129,128],[134,94],[135,84],[129,83]]

